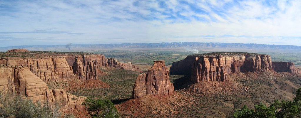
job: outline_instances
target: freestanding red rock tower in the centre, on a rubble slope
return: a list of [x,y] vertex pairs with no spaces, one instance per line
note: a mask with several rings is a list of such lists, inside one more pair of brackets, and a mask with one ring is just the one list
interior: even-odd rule
[[147,74],[139,74],[133,87],[132,98],[144,95],[163,96],[174,91],[174,86],[169,80],[169,71],[164,61],[154,61],[154,65]]

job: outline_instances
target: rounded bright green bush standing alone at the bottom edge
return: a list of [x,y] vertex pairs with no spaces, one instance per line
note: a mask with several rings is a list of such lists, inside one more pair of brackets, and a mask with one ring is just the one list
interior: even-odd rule
[[82,103],[92,118],[119,118],[119,113],[108,99],[86,98]]

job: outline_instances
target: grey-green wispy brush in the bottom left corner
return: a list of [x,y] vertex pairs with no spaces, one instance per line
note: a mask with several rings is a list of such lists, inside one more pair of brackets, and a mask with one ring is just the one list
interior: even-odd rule
[[60,118],[60,106],[33,103],[17,94],[0,93],[0,117],[10,118]]

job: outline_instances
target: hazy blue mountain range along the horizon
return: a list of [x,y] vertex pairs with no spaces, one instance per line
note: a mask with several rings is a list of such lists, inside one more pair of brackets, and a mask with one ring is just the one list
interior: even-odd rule
[[249,48],[249,49],[281,49],[281,50],[301,50],[301,46],[294,45],[267,45],[267,44],[241,44],[241,43],[199,43],[199,42],[172,42],[172,43],[123,43],[123,44],[67,44],[67,45],[29,45],[29,46],[10,46],[0,47],[0,51],[16,48],[28,50],[38,49],[68,49],[73,48]]

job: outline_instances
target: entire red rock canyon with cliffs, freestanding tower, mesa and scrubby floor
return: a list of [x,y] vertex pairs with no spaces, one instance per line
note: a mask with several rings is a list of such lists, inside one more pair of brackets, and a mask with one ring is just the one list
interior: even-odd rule
[[290,100],[300,87],[299,68],[292,62],[272,62],[265,54],[194,54],[172,63],[169,70],[166,61],[154,61],[143,73],[131,62],[102,54],[5,54],[0,57],[1,90],[59,103],[64,112],[78,117],[86,115],[80,112],[86,112],[81,105],[85,97],[112,100],[121,117],[227,117],[244,104]]

